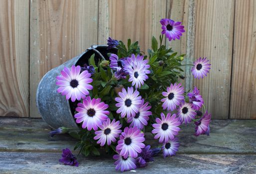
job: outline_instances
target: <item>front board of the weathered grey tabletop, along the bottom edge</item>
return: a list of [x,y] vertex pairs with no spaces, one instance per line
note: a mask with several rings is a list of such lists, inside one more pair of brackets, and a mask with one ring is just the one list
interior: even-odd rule
[[[4,174],[120,174],[111,157],[78,156],[79,167],[58,162],[60,153],[0,152],[0,172]],[[177,155],[157,156],[136,174],[255,174],[256,155]]]

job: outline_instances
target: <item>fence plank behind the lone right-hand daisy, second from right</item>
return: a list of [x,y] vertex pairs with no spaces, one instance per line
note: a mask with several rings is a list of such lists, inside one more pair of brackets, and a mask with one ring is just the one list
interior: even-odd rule
[[218,119],[229,115],[234,8],[234,0],[195,1],[195,60],[208,57],[212,69],[194,85],[200,88],[207,110]]

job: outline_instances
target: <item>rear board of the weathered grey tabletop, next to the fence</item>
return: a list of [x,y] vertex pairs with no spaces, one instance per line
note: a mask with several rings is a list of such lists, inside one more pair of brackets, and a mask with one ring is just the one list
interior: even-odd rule
[[[194,125],[181,126],[178,135],[178,154],[248,154],[256,155],[256,120],[213,120],[210,136],[195,137]],[[0,119],[1,152],[61,152],[73,149],[77,140],[68,135],[50,138],[51,129],[41,119]],[[146,134],[145,144],[159,146],[157,140]]]

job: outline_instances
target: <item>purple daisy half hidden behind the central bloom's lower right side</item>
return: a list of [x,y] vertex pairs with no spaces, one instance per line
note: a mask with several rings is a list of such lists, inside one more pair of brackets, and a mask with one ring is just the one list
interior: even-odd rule
[[134,117],[127,119],[127,123],[131,123],[129,127],[137,127],[143,129],[144,125],[148,125],[149,116],[152,115],[151,111],[148,111],[151,106],[148,106],[149,102],[144,104],[144,99],[142,99],[141,104],[139,105],[139,111]]

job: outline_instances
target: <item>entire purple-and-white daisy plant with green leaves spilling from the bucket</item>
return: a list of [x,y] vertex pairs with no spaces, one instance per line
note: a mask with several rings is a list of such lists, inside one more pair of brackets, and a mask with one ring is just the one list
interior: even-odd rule
[[[161,19],[160,23],[160,46],[153,37],[149,58],[140,52],[138,42],[131,44],[128,39],[126,47],[109,37],[107,49],[117,50],[108,54],[109,59],[96,65],[92,55],[89,65],[73,65],[60,72],[57,92],[77,105],[73,114],[80,130],[62,127],[50,135],[70,133],[80,140],[74,149],[79,148],[85,156],[100,155],[99,148],[115,153],[116,170],[123,172],[146,167],[160,151],[164,158],[174,156],[183,123],[194,122],[195,136],[210,134],[211,114],[205,110],[200,90],[194,87],[186,92],[178,83],[179,78],[185,78],[179,68],[185,55],[176,56],[162,45],[164,35],[169,41],[180,39],[184,26],[171,19]],[[199,58],[191,66],[193,76],[203,79],[211,64]],[[145,145],[145,130],[159,141],[157,148]],[[69,149],[63,150],[60,162],[78,166]]]

